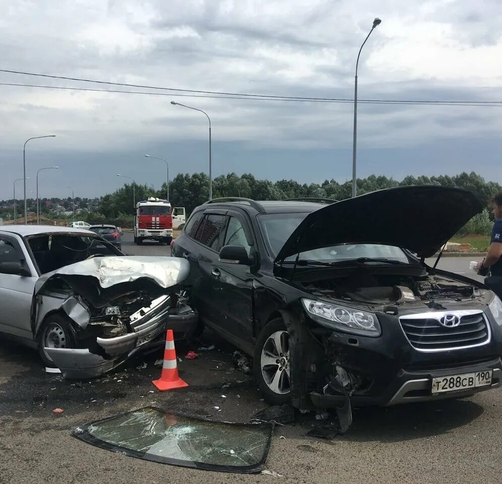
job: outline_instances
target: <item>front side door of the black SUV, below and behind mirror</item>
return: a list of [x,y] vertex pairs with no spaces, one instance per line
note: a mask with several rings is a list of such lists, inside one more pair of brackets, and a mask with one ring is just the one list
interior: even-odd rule
[[[249,256],[254,245],[246,218],[238,212],[228,212],[223,246],[243,246]],[[251,343],[253,339],[253,274],[248,265],[214,264],[217,275],[215,302],[218,321],[234,338]]]

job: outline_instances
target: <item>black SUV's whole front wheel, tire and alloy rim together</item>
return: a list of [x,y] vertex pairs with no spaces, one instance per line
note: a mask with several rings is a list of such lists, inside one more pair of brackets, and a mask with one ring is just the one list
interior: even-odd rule
[[273,319],[260,332],[253,357],[255,382],[267,402],[291,403],[290,367],[286,325],[281,318]]

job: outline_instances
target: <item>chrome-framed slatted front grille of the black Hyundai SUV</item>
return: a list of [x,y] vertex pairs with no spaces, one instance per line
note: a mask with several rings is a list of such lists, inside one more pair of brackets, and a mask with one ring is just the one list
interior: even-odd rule
[[[445,316],[457,316],[460,324],[445,327]],[[490,341],[490,326],[482,311],[444,311],[399,318],[404,334],[418,351],[447,351],[481,346]]]

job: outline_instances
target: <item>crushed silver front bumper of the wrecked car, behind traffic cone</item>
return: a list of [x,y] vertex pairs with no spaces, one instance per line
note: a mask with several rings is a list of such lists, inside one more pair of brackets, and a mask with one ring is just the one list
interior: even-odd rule
[[[121,365],[131,356],[164,342],[166,329],[177,337],[192,334],[199,323],[199,315],[189,307],[183,311],[170,308],[168,296],[153,301],[150,310],[138,311],[131,317],[134,332],[114,338],[96,338],[101,354],[88,348],[45,348],[64,378],[98,377]],[[178,314],[179,313],[179,314]]]

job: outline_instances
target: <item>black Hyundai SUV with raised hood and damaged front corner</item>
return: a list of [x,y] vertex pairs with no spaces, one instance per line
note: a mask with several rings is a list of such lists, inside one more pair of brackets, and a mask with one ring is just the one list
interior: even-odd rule
[[437,186],[211,200],[173,255],[191,263],[203,322],[253,356],[268,401],[350,414],[500,385],[500,299],[425,263],[481,209]]

